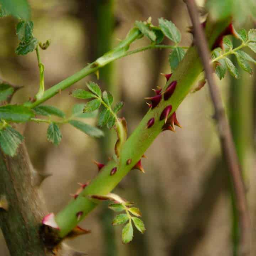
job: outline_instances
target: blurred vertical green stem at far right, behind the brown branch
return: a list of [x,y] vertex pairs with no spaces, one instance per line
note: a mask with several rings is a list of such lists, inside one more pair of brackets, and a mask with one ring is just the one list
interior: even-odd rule
[[[235,61],[235,59],[233,60]],[[236,152],[241,164],[242,175],[246,180],[246,170],[250,170],[251,163],[247,161],[248,155],[253,151],[253,112],[254,84],[252,79],[239,69],[240,79],[231,76],[230,80],[230,126],[234,138]],[[246,87],[244,86],[246,85]],[[246,183],[246,182],[245,182]],[[234,189],[231,186],[231,202],[232,202],[232,237],[233,237],[233,255],[238,255],[239,247],[239,214],[235,202]]]

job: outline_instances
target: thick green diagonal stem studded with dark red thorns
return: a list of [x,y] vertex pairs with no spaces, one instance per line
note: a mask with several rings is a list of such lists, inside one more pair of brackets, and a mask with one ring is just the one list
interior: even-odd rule
[[[206,34],[209,39],[209,46],[211,47],[224,30],[230,21],[225,21],[215,24],[207,24]],[[172,78],[167,82],[165,88],[172,80],[177,81],[177,86],[174,94],[169,100],[161,100],[157,107],[150,109],[139,123],[138,127],[133,131],[130,137],[122,146],[118,163],[114,160],[109,161],[94,180],[87,186],[79,196],[71,201],[62,211],[60,211],[55,220],[59,225],[59,236],[64,237],[77,224],[78,220],[76,214],[83,212],[81,219],[83,219],[92,209],[97,206],[97,203],[92,202],[89,198],[92,194],[108,194],[113,188],[122,180],[124,176],[132,169],[132,167],[140,160],[146,149],[153,143],[155,138],[162,132],[164,120],[159,121],[160,115],[164,108],[172,105],[172,114],[177,110],[186,95],[190,92],[193,83],[197,80],[198,75],[202,72],[201,60],[198,56],[197,49],[191,47],[188,49],[184,59],[179,64]],[[164,89],[165,89],[164,88]],[[146,128],[150,118],[155,119],[152,127]],[[131,159],[131,163],[127,165],[127,160]],[[110,175],[113,167],[117,167],[117,172]]]

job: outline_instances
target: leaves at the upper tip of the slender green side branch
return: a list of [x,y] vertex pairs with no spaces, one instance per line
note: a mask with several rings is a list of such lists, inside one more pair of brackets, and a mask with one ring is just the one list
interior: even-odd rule
[[174,49],[169,55],[170,67],[172,70],[175,70],[185,55],[185,50],[178,46],[178,43],[181,41],[181,32],[171,21],[159,18],[158,22],[159,27],[153,26],[150,21],[136,21],[135,26],[137,26],[140,32],[148,37],[153,44],[161,43],[165,36],[175,43]]

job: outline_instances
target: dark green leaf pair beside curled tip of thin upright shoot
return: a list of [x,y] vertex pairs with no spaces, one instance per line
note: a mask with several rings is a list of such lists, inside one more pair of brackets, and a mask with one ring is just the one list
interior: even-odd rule
[[33,36],[33,27],[32,21],[21,20],[17,24],[16,31],[18,39],[20,40],[16,48],[18,55],[26,55],[36,49],[38,40]]

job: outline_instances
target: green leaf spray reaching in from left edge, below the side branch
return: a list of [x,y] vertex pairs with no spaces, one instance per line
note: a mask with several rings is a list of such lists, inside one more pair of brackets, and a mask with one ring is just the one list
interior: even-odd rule
[[[23,105],[6,104],[10,101],[10,97],[17,88],[7,82],[0,81],[0,146],[5,154],[14,156],[18,145],[22,143],[23,136],[18,133],[9,123],[24,123],[28,121],[49,123],[47,129],[47,139],[55,145],[58,145],[62,139],[59,125],[68,123],[76,129],[81,130],[91,137],[103,136],[102,130],[97,127],[90,126],[80,119],[93,118],[97,116],[98,111],[84,113],[85,104],[76,104],[73,107],[72,114],[69,118],[63,111],[54,106],[42,105],[37,106],[33,110]],[[38,116],[46,116],[49,119],[37,119]],[[53,121],[52,116],[61,118],[60,121]]]

